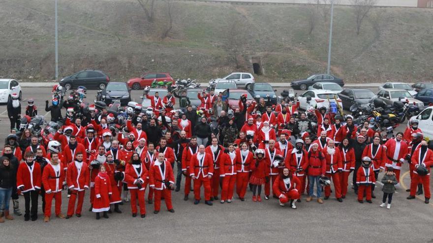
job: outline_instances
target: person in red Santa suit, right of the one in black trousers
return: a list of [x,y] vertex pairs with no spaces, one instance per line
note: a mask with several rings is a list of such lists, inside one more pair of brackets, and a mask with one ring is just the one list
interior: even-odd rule
[[61,212],[64,177],[65,172],[63,170],[63,164],[59,161],[59,155],[53,152],[51,153],[50,162],[45,166],[42,172],[42,184],[45,190],[44,222],[50,221],[53,197],[56,200],[56,217],[64,218]]

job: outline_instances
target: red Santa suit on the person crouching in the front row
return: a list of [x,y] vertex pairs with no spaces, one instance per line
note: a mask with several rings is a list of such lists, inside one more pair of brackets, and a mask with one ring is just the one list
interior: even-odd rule
[[301,196],[301,181],[296,176],[282,178],[281,175],[275,179],[272,190],[279,198],[280,203],[287,203],[290,200],[299,199]]

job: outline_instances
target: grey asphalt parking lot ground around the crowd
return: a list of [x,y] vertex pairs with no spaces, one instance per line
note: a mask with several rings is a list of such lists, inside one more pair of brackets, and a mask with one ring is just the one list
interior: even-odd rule
[[[281,90],[278,88],[277,94]],[[23,88],[23,110],[27,99],[34,98],[39,114],[49,121],[50,114],[44,107],[45,100],[51,99],[50,91],[51,88]],[[377,88],[372,91],[376,93]],[[93,101],[95,94],[95,90],[89,90],[87,100]],[[141,101],[141,94],[141,90],[132,91],[133,100]],[[3,141],[9,134],[5,105],[0,106],[0,119],[0,141]],[[121,206],[123,214],[113,213],[109,219],[96,220],[94,213],[87,211],[88,191],[81,218],[53,216],[49,223],[44,223],[39,200],[38,220],[25,222],[23,216],[15,216],[15,220],[1,224],[0,242],[433,242],[433,203],[424,204],[424,196],[405,199],[408,195],[405,189],[410,183],[407,164],[403,165],[401,181],[390,210],[378,207],[382,196],[380,185],[375,190],[377,198],[373,204],[359,204],[349,185],[342,203],[333,194],[322,205],[314,200],[307,203],[304,196],[296,210],[280,207],[273,198],[252,202],[249,191],[245,202],[235,197],[231,204],[214,202],[208,206],[202,200],[193,205],[192,193],[189,201],[184,201],[182,188],[180,192],[172,192],[174,214],[167,212],[162,203],[161,212],[154,215],[154,205],[146,203],[144,219],[132,218],[130,203],[125,203]],[[24,211],[22,197],[20,202]],[[63,214],[67,202],[63,192]]]

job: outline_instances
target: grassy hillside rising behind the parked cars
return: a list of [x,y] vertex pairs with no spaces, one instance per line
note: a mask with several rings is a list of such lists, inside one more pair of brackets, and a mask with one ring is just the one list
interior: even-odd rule
[[[54,79],[54,2],[0,0],[0,76]],[[149,22],[136,0],[59,0],[61,76],[94,68],[113,80],[147,71],[207,81],[252,71],[262,81],[290,81],[326,70],[329,18],[321,6],[309,34],[310,7],[155,1]],[[325,14],[324,14],[325,13]],[[346,81],[433,80],[433,11],[374,8],[359,35],[353,9],[335,9],[332,72]]]

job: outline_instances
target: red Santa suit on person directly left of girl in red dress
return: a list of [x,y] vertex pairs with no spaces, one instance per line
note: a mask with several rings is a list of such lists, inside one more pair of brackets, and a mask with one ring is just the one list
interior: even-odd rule
[[249,150],[236,149],[236,193],[245,198],[254,155]]

